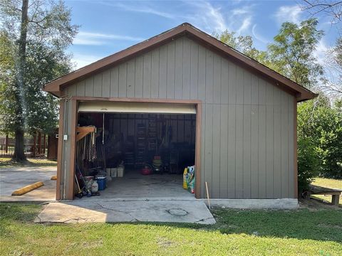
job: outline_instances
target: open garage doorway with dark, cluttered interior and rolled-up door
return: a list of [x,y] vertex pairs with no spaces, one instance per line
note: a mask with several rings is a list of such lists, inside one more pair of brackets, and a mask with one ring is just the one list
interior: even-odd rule
[[76,142],[76,176],[105,176],[94,200],[195,198],[183,173],[195,166],[196,126],[195,105],[80,102],[78,127],[95,132]]

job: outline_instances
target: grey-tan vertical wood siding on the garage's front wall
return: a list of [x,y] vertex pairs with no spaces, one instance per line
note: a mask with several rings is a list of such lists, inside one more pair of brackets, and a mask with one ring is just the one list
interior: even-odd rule
[[201,196],[207,181],[213,198],[294,198],[294,96],[189,38],[81,80],[66,93],[202,100]]

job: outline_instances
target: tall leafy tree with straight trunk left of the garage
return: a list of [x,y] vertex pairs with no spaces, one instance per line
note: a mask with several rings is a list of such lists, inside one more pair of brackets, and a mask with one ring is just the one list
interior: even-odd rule
[[24,132],[56,125],[56,101],[40,88],[68,73],[70,55],[64,51],[76,36],[71,11],[63,1],[2,0],[0,129],[16,137],[14,159],[23,161]]

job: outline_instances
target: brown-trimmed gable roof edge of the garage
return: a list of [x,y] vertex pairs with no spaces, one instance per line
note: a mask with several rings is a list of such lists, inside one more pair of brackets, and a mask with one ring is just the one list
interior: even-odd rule
[[56,80],[48,82],[46,85],[44,85],[43,90],[46,92],[51,92],[53,95],[60,97],[61,90],[63,90],[65,87],[68,87],[68,85],[72,85],[78,80],[98,73],[105,68],[109,68],[110,66],[121,63],[129,58],[133,58],[135,55],[145,53],[152,48],[161,46],[162,44],[172,41],[175,38],[179,38],[180,36],[188,36],[192,38],[192,40],[202,44],[204,47],[214,50],[220,55],[232,59],[237,64],[243,65],[245,68],[248,68],[259,75],[268,78],[269,80],[273,81],[275,85],[278,85],[280,88],[296,95],[298,102],[310,100],[317,96],[314,92],[311,92],[310,90],[297,84],[289,78],[284,77],[276,71],[267,68],[265,65],[257,62],[257,60],[249,58],[240,53],[238,50],[227,46],[227,44],[222,43],[212,36],[209,36],[207,33],[200,31],[190,23],[182,23],[180,26],[172,28],[169,31],[161,33],[160,35],[154,36],[146,41],[142,41],[141,43],[126,48],[125,50],[121,50],[113,55],[109,55],[108,57],[86,65],[85,67],[68,73],[67,75],[63,75],[61,78],[57,78]]

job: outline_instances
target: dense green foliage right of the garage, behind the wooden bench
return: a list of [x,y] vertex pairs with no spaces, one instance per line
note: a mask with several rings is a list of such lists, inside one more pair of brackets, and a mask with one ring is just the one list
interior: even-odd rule
[[[303,102],[298,107],[299,147],[302,139],[309,139],[314,145],[314,156],[320,176],[342,178],[342,108],[338,102],[331,106],[327,97]],[[299,158],[301,151],[299,151]],[[317,169],[317,170],[316,170]],[[299,163],[300,170],[300,163]]]

